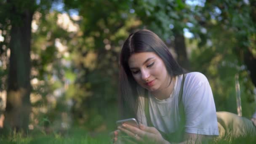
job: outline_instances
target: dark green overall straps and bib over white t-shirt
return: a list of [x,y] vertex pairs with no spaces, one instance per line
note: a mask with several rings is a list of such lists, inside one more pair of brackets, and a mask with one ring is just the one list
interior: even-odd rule
[[[184,105],[182,102],[182,95],[183,95],[183,87],[184,87],[184,81],[185,81],[185,75],[182,75],[182,82],[181,82],[181,88],[179,91],[179,114],[180,114],[180,118],[181,118],[181,125],[179,125],[179,128],[176,132],[174,133],[165,133],[163,131],[158,130],[163,138],[167,141],[170,142],[181,142],[183,141],[183,136],[184,136],[184,132],[185,132],[185,111],[184,111]],[[154,127],[154,125],[152,124],[152,121],[150,119],[150,114],[149,114],[149,102],[148,102],[148,91],[145,90],[145,98],[144,98],[144,105],[145,105],[145,116],[147,118],[147,124],[148,126]]]

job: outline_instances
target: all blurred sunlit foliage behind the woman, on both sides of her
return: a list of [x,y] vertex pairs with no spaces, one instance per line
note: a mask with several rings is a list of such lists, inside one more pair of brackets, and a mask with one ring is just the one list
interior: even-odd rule
[[[235,75],[242,110],[256,95],[243,52],[256,56],[253,1],[39,0],[32,21],[31,124],[65,130],[115,128],[118,59],[126,37],[148,28],[166,43],[184,29],[191,69],[208,77],[217,111],[236,112]],[[5,0],[0,2],[5,3]],[[54,6],[59,6],[55,8]],[[6,90],[11,23],[0,5],[0,92]],[[255,15],[254,15],[255,16]],[[2,19],[5,18],[5,19]],[[50,131],[50,130],[49,130]]]

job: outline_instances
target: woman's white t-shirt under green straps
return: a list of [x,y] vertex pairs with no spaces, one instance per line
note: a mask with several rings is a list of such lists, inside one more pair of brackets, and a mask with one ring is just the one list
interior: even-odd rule
[[[173,93],[168,99],[159,100],[148,94],[149,114],[155,128],[165,133],[177,131],[180,125],[178,96],[182,75],[176,76]],[[139,95],[144,93],[139,91]],[[186,74],[182,102],[186,115],[185,132],[219,136],[216,108],[210,84],[200,72]],[[139,123],[147,125],[144,112],[144,97],[139,96]]]

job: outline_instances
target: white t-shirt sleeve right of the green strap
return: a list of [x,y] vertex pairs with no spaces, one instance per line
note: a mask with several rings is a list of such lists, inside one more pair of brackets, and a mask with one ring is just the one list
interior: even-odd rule
[[207,78],[197,73],[186,77],[184,84],[185,132],[218,136],[216,107]]

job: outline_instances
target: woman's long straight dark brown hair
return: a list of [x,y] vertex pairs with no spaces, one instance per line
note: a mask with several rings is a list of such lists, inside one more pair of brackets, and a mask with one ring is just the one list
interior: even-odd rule
[[149,30],[139,30],[131,33],[125,40],[120,53],[120,91],[118,97],[121,118],[137,118],[138,91],[140,85],[135,81],[128,65],[128,59],[133,53],[154,52],[164,62],[171,77],[181,75],[185,71],[173,58],[163,41]]

